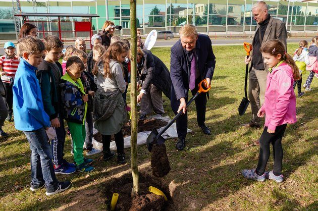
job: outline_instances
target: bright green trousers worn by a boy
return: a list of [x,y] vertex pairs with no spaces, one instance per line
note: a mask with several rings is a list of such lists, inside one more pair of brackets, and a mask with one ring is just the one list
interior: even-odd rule
[[67,122],[67,124],[73,139],[74,161],[76,165],[80,165],[84,162],[83,145],[86,136],[85,125],[74,122]]

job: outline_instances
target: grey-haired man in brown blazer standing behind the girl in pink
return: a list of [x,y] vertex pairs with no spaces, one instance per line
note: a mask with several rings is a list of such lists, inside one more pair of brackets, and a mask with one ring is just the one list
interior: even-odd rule
[[[264,102],[268,67],[263,63],[259,48],[268,40],[278,39],[283,42],[287,51],[287,31],[283,21],[270,16],[268,5],[265,2],[260,1],[255,3],[252,6],[252,13],[258,25],[252,41],[252,54],[248,59],[245,58],[245,64],[251,61],[248,96],[252,110],[252,119],[243,126],[260,128],[260,118],[257,117],[257,112]],[[259,145],[257,140],[254,142],[254,145]]]

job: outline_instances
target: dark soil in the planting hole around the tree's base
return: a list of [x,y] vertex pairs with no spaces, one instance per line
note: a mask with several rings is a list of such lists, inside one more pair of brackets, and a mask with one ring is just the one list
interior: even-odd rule
[[[113,193],[119,194],[115,210],[165,210],[173,203],[169,194],[169,185],[162,184],[159,179],[139,173],[139,195],[134,198],[131,197],[132,186],[130,173],[105,183],[103,194],[107,198],[107,205],[110,207]],[[165,201],[164,196],[149,192],[149,186],[163,191],[168,201]]]

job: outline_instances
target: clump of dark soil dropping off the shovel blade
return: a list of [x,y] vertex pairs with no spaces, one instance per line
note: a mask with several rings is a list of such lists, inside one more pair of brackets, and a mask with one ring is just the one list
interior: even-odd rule
[[151,170],[155,177],[164,177],[170,172],[170,163],[167,156],[165,144],[152,145],[151,150]]

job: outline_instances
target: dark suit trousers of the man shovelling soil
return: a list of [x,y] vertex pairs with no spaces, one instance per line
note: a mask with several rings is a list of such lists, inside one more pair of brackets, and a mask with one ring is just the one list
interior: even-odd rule
[[[195,88],[191,90],[192,95],[194,95],[198,90],[198,84],[200,80],[195,81]],[[186,102],[188,102],[188,93],[186,97]],[[199,126],[203,125],[205,122],[205,110],[206,110],[206,93],[201,93],[197,98],[195,98],[195,107],[196,107],[196,119]],[[175,89],[172,85],[171,87],[171,108],[172,111],[177,115],[177,111],[180,105],[180,99],[177,100]],[[179,138],[185,138],[188,130],[188,113],[182,114],[177,119],[177,133]]]

